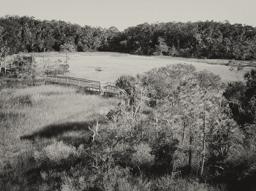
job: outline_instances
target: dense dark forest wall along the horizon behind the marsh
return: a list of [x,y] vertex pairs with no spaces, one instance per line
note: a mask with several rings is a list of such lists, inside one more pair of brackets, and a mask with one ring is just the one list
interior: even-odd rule
[[[70,22],[36,20],[28,16],[0,18],[1,46],[9,53],[59,51],[72,44],[76,51],[113,51],[188,58],[253,57],[256,28],[229,21],[143,23],[119,32],[116,27],[81,27]],[[245,52],[246,49],[246,52]]]

